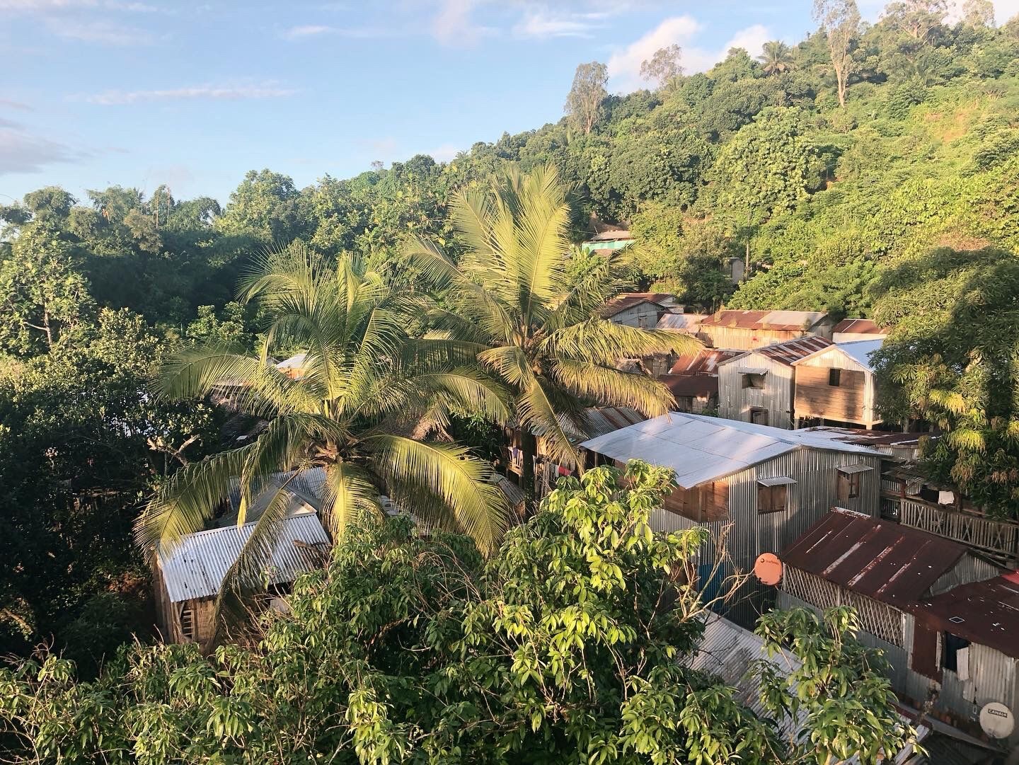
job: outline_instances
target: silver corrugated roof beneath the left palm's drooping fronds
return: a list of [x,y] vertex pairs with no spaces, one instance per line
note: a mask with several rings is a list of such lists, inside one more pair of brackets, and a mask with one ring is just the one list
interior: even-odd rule
[[[251,538],[255,522],[187,534],[170,552],[157,551],[166,591],[172,603],[196,598],[211,598],[219,593],[227,569],[236,561]],[[269,583],[292,582],[317,565],[318,553],[302,547],[325,548],[329,537],[315,513],[284,518],[270,550],[262,552],[268,560]],[[253,586],[258,583],[251,583]]]

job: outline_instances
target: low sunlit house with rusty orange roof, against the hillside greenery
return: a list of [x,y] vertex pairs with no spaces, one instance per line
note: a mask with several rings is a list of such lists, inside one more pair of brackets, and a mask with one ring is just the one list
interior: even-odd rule
[[835,321],[820,311],[719,311],[700,323],[716,348],[751,350],[797,337],[832,339]]

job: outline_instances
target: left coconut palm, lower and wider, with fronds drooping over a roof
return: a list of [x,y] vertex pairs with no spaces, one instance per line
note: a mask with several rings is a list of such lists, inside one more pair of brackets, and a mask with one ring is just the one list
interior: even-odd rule
[[[467,366],[479,346],[416,336],[410,328],[420,326],[422,309],[412,293],[394,291],[355,258],[330,268],[300,245],[267,256],[240,296],[257,302],[271,322],[261,357],[218,347],[183,352],[162,370],[156,392],[201,396],[228,380],[239,391],[237,406],[269,424],[252,443],[174,474],[138,521],[140,544],[172,546],[204,529],[238,480],[238,525],[270,492],[222,588],[224,596],[237,595],[260,580],[268,543],[286,513],[288,482],[320,468],[321,514],[333,538],[352,518],[381,512],[389,497],[419,522],[464,531],[492,551],[507,507],[490,483],[490,467],[460,446],[411,437],[423,421],[442,423],[458,407],[506,420],[503,401]],[[307,352],[291,379],[269,354],[296,347]],[[281,473],[289,477],[282,488]]]

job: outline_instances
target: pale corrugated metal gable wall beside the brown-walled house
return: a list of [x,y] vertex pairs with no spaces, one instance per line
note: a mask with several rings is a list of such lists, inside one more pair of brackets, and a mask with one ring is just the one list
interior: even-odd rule
[[[743,372],[765,369],[763,388],[744,388]],[[793,428],[793,368],[750,353],[718,365],[718,415],[730,420],[750,421],[750,408],[767,409],[767,424],[773,428]]]

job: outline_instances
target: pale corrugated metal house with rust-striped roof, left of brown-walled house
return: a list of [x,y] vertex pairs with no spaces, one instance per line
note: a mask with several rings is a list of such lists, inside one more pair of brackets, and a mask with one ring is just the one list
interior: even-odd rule
[[792,428],[794,364],[832,345],[823,337],[800,337],[748,350],[718,365],[718,416],[755,425]]

